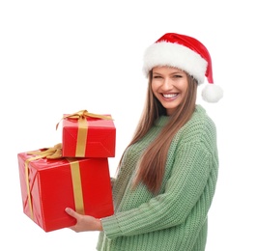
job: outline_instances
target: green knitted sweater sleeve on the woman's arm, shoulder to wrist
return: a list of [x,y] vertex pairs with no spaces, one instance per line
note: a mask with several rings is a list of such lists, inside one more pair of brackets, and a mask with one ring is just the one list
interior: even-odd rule
[[139,235],[183,223],[211,178],[213,162],[213,154],[201,142],[184,144],[172,167],[167,160],[166,169],[172,168],[172,173],[164,192],[138,208],[103,218],[106,237]]

